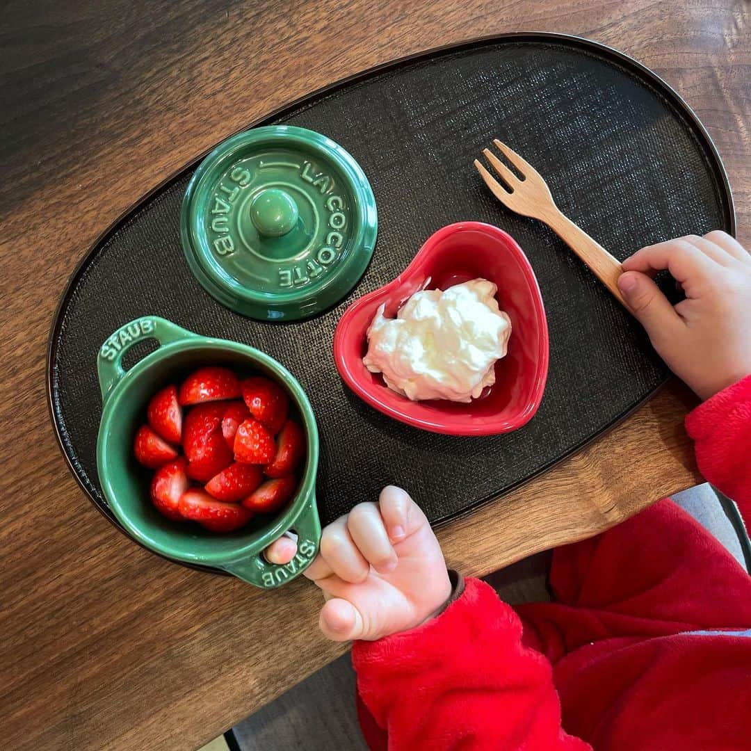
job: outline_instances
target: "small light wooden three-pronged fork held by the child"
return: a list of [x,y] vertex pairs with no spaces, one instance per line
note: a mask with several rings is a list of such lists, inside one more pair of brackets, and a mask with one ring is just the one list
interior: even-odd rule
[[477,167],[485,184],[493,195],[508,209],[539,219],[550,227],[576,255],[590,267],[595,276],[614,294],[624,306],[626,303],[620,294],[616,280],[623,273],[623,268],[616,258],[613,258],[605,248],[593,240],[581,227],[578,227],[567,216],[564,216],[553,201],[547,182],[539,173],[513,149],[497,138],[493,143],[504,153],[508,161],[519,170],[523,179],[519,179],[490,149],[482,152],[496,170],[502,182],[494,179],[479,159],[475,159]]

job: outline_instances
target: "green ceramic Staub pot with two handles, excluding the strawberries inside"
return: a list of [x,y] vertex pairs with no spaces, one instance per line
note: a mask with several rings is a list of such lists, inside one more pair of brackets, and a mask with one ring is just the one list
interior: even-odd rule
[[[158,348],[126,372],[123,356],[145,339],[155,339]],[[225,365],[241,376],[261,373],[284,385],[307,439],[297,496],[276,517],[258,515],[226,535],[161,516],[149,499],[152,472],[133,456],[134,435],[146,420],[149,398],[202,365]],[[113,513],[137,541],[176,560],[225,569],[257,587],[279,587],[309,566],[321,539],[315,505],[318,428],[305,392],[287,369],[257,349],[198,336],[156,316],[137,318],[113,333],[101,346],[97,366],[103,402],[97,439],[99,481]],[[286,566],[267,562],[262,551],[289,529],[299,536],[297,556]]]

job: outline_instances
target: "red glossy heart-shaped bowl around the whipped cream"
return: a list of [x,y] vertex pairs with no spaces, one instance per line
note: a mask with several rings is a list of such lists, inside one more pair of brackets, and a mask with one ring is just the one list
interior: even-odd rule
[[[469,404],[412,402],[388,388],[363,365],[366,332],[375,312],[393,318],[412,294],[489,279],[511,317],[508,354],[496,363],[496,383]],[[333,339],[336,369],[370,406],[403,423],[452,436],[490,436],[526,424],[537,411],[547,379],[547,320],[535,273],[511,235],[481,222],[458,222],[431,235],[393,282],[356,300],[342,315]]]

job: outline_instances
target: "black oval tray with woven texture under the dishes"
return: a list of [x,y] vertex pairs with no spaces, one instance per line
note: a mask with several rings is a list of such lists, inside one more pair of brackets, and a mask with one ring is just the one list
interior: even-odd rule
[[[323,523],[388,483],[409,489],[433,523],[449,520],[543,472],[653,394],[667,372],[638,324],[547,228],[505,210],[481,182],[472,160],[493,137],[528,159],[562,211],[617,258],[668,237],[734,231],[725,171],[689,107],[638,62],[578,38],[511,34],[433,50],[250,125],[279,122],[320,131],[360,162],[379,210],[372,263],[348,299],[309,321],[260,323],[222,307],[180,247],[180,201],[195,162],[109,228],[60,302],[48,387],[65,458],[113,522],[96,472],[96,355],[140,315],[252,344],[297,376],[321,431]],[[544,399],[526,427],[504,436],[460,439],[392,421],[345,388],[331,354],[345,306],[393,279],[433,231],[462,219],[517,239],[547,308]]]

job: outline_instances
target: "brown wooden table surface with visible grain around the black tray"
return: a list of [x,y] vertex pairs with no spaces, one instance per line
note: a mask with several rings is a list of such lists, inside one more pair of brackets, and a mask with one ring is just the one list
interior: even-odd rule
[[[8,749],[189,749],[321,667],[306,581],[261,593],[127,541],[65,468],[45,346],[69,274],[144,192],[285,102],[372,65],[499,32],[582,35],[665,78],[728,169],[751,242],[749,6],[721,0],[13,3],[3,10],[0,739]],[[92,395],[92,399],[95,399]],[[541,478],[439,530],[483,575],[697,480],[664,388]]]

